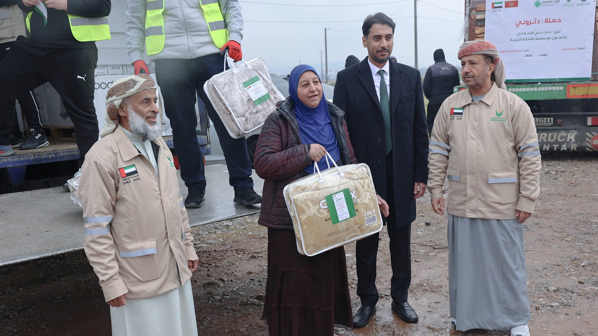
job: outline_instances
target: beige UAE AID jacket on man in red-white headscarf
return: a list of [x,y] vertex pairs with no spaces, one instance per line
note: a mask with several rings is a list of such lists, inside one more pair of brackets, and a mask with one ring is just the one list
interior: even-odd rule
[[532,112],[520,97],[492,88],[479,102],[469,90],[444,100],[434,120],[428,189],[454,216],[514,219],[533,213],[540,193],[541,157]]

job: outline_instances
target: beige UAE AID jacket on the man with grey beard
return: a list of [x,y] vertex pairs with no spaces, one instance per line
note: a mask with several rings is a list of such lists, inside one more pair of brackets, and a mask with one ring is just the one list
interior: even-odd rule
[[83,163],[83,246],[106,301],[178,288],[191,278],[187,260],[198,259],[172,154],[162,138],[154,143],[159,179],[120,127],[96,142]]

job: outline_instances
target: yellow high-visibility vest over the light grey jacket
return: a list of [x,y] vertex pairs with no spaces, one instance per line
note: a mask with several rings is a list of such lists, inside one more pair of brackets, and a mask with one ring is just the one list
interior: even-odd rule
[[[164,11],[165,0],[147,0],[145,12],[145,48],[148,55],[160,53],[164,50]],[[199,0],[203,10],[203,17],[208,23],[210,36],[216,47],[222,48],[228,42],[228,30],[222,17],[218,0]]]

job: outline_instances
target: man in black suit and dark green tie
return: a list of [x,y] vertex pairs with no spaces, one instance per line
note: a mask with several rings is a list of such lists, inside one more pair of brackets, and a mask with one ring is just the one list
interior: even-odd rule
[[[390,215],[385,224],[390,238],[392,310],[408,323],[417,322],[407,302],[411,283],[411,222],[415,200],[428,182],[428,129],[423,105],[422,77],[416,69],[389,62],[395,23],[383,13],[365,18],[362,26],[368,57],[338,72],[334,105],[343,109],[349,136],[359,162],[370,166],[376,191]],[[361,307],[353,318],[359,328],[376,312],[376,253],[378,234],[358,240],[357,295]]]

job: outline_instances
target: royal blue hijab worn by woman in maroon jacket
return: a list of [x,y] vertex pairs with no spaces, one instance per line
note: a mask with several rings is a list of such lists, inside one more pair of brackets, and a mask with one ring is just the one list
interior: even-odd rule
[[[334,135],[334,130],[332,129],[332,124],[330,122],[330,112],[328,112],[324,91],[322,91],[322,99],[320,100],[320,103],[315,108],[310,108],[305,105],[301,102],[299,96],[297,96],[299,77],[306,71],[313,71],[318,75],[316,69],[305,64],[295,66],[291,71],[291,75],[289,75],[289,95],[295,103],[294,111],[297,123],[299,124],[301,142],[308,144],[319,143],[326,148],[326,151],[332,158],[334,158],[334,161],[338,162],[338,160],[340,160],[340,151],[338,150],[336,136]],[[319,75],[318,78],[320,78]],[[332,166],[332,163],[330,163],[330,166]],[[320,170],[328,169],[325,157],[322,157],[318,162],[318,167]],[[313,173],[313,169],[313,161],[312,164],[305,167],[305,171],[310,174]]]

